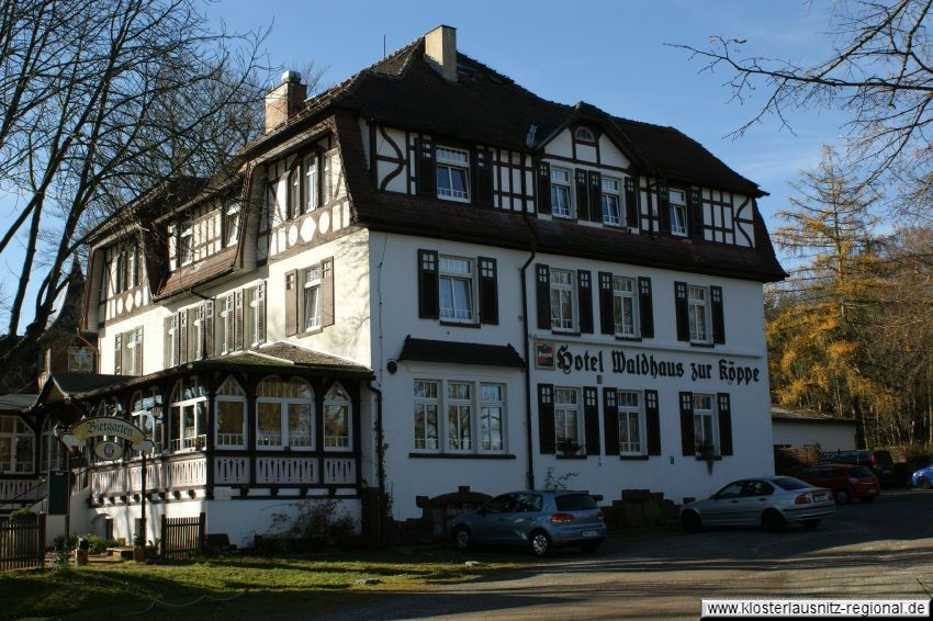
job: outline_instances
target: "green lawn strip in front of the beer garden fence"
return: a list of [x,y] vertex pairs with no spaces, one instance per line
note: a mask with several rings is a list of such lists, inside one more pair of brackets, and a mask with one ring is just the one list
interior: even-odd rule
[[[465,560],[481,561],[466,566]],[[132,562],[68,571],[0,573],[0,618],[5,619],[277,619],[307,618],[359,606],[368,598],[472,580],[536,560],[495,552],[451,550],[334,553],[307,558],[228,556],[158,564]],[[379,584],[358,585],[363,578]],[[162,603],[149,608],[158,598]],[[228,601],[217,601],[226,599]]]

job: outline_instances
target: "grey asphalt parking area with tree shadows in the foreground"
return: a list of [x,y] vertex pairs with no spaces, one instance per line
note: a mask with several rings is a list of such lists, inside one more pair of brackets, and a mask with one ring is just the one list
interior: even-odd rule
[[696,619],[702,598],[933,594],[933,492],[886,490],[818,529],[659,532],[530,572],[392,597],[328,619]]

